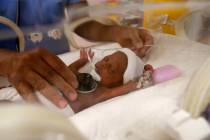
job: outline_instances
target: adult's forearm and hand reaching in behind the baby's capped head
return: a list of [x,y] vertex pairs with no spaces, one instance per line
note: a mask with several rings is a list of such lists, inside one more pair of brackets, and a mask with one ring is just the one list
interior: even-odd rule
[[122,47],[132,49],[141,58],[154,43],[152,35],[145,29],[104,25],[97,21],[84,23],[75,32],[92,41],[118,42]]

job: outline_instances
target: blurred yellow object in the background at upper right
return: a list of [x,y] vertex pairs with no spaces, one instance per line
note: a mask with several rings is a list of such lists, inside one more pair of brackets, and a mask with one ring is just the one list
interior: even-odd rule
[[144,0],[144,5],[144,27],[174,35],[174,22],[188,12],[185,0]]

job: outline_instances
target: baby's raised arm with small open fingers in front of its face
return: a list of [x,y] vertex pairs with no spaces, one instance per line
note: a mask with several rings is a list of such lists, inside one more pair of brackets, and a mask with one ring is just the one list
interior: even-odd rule
[[88,62],[88,55],[92,59],[94,53],[89,50],[88,52],[85,49],[80,50],[80,58],[69,65],[69,69],[75,74],[78,75],[78,71],[81,67],[83,67]]

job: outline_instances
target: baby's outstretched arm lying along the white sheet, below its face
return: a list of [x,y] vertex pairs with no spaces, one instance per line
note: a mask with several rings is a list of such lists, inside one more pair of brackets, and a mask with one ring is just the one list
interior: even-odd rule
[[79,94],[78,99],[74,102],[70,102],[69,104],[74,112],[80,112],[83,109],[93,106],[97,103],[134,91],[136,90],[136,86],[137,83],[131,81],[125,85],[112,89],[98,87],[98,89],[94,93]]

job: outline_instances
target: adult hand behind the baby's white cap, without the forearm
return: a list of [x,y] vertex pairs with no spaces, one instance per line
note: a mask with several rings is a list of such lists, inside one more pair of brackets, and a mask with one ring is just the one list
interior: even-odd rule
[[152,35],[145,29],[111,26],[109,30],[108,35],[113,41],[132,49],[141,58],[147,54],[154,43]]

